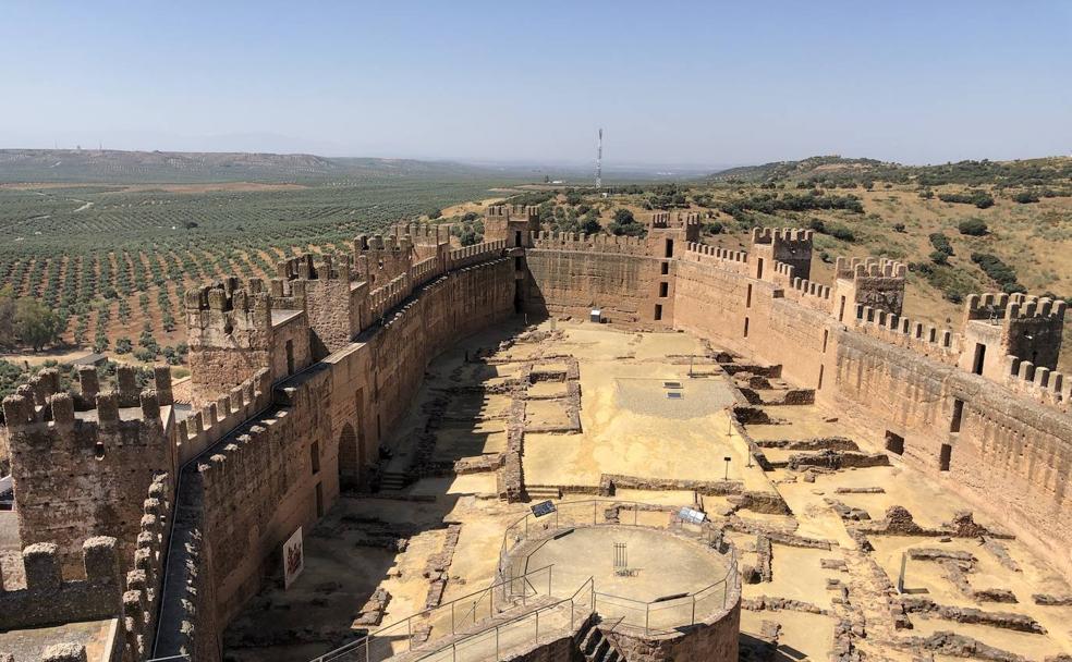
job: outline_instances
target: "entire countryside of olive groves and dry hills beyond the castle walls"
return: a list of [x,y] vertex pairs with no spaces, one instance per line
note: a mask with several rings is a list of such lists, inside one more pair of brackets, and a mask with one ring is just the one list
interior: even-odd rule
[[[179,366],[187,287],[229,275],[270,277],[281,258],[349,252],[357,234],[403,220],[437,216],[459,224],[459,241],[479,241],[479,218],[499,201],[537,205],[545,230],[565,232],[632,233],[643,231],[654,210],[696,211],[703,242],[741,249],[756,225],[815,228],[813,280],[829,283],[838,256],[904,261],[904,314],[942,328],[959,326],[963,298],[975,292],[1011,287],[1072,297],[1072,159],[1048,159],[1026,174],[1010,166],[1002,176],[977,167],[969,175],[955,168],[952,174],[915,169],[906,175],[911,169],[904,167],[823,158],[599,194],[525,184],[516,173],[484,171],[479,177],[465,167],[451,173],[413,164],[400,170],[390,162],[377,170],[368,160],[355,161],[360,174],[340,175],[330,171],[333,161],[325,161],[318,167],[327,170],[315,176],[288,177],[292,173],[281,170],[258,181],[209,181],[221,176],[217,163],[170,183],[145,176],[130,183],[0,183],[0,294],[7,289],[9,296],[40,301],[66,322],[61,346],[22,348],[0,359],[26,369],[27,363],[96,351],[129,363]],[[292,166],[289,158],[283,162]],[[94,175],[87,168],[71,177]],[[0,163],[0,182],[17,179],[10,175]],[[1018,201],[1025,192],[1039,195]],[[991,201],[967,204],[969,194]],[[621,210],[632,214],[632,225],[616,223]],[[964,222],[982,223],[985,231],[965,234]],[[936,242],[942,255],[936,256]],[[984,265],[979,255],[994,259]],[[995,271],[995,263],[1004,271]],[[1061,368],[1072,370],[1070,331]]]

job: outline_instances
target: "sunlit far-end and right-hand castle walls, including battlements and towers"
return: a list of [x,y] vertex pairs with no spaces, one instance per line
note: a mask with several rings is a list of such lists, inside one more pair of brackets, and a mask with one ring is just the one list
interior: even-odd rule
[[[762,248],[751,255],[689,244],[675,252],[673,315],[661,324],[780,364],[788,379],[816,389],[818,402],[872,430],[875,443],[884,444],[888,431],[903,438],[909,462],[1018,535],[1056,550],[1052,561],[1072,575],[1072,527],[1063,517],[1072,511],[1072,380],[1050,369],[1063,304],[973,297],[970,320],[953,332],[899,316],[902,265],[839,261],[839,280],[831,289],[794,275],[805,262],[803,253],[794,254],[791,266],[770,263],[769,247]],[[534,297],[532,305],[544,303],[549,314],[580,315],[594,292],[613,298],[616,286],[623,286],[625,302],[643,298],[637,292],[645,289],[644,265],[658,259],[632,249],[607,250],[537,243],[528,263],[543,301]],[[973,331],[985,323],[984,309],[1002,320],[984,329],[987,336]],[[982,376],[971,373],[976,341],[988,343]],[[951,431],[954,408],[961,409],[958,431]],[[943,444],[948,467],[940,459]]]

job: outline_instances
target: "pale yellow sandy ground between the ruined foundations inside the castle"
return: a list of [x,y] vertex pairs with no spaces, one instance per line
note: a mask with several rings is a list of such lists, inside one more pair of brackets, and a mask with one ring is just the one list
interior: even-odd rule
[[[549,328],[544,327],[545,330]],[[818,474],[814,482],[805,482],[800,474],[788,469],[764,474],[757,466],[750,468],[746,466],[746,442],[730,431],[723,409],[724,399],[732,397],[733,393],[729,380],[719,376],[689,378],[687,360],[682,361],[681,357],[704,352],[696,339],[677,333],[624,333],[584,323],[559,323],[557,328],[564,336],[547,346],[519,342],[496,354],[511,363],[487,366],[464,361],[466,351],[495,347],[505,338],[501,332],[470,339],[437,358],[410,412],[388,439],[388,445],[395,453],[389,466],[404,467],[410,461],[414,452],[413,432],[422,428],[426,416],[422,405],[441,395],[444,388],[502,384],[517,375],[521,361],[538,359],[545,353],[571,355],[580,366],[582,430],[526,433],[522,459],[527,485],[595,486],[601,474],[721,480],[727,474],[722,458],[729,456],[730,479],[743,480],[748,489],[779,492],[793,513],[772,515],[739,511],[736,515],[742,522],[831,542],[829,550],[775,543],[770,581],[743,587],[745,599],[797,600],[826,610],[827,614],[744,610],[743,642],[758,635],[764,621],[771,621],[782,628],[778,660],[827,658],[832,649],[837,620],[842,613],[839,610],[843,609],[836,600],[840,590],[828,583],[839,580],[851,587],[856,617],[869,618],[868,637],[858,643],[869,654],[877,655],[876,659],[909,662],[911,653],[894,648],[896,640],[938,630],[970,635],[1030,660],[1072,652],[1068,626],[1072,622],[1072,608],[1039,606],[1032,600],[1032,594],[1037,592],[1064,593],[1069,589],[1026,544],[1004,541],[1009,554],[1020,565],[1020,572],[1002,566],[975,540],[939,542],[936,538],[872,536],[875,551],[865,555],[855,549],[845,523],[824,501],[830,498],[864,508],[873,518],[880,518],[891,505],[903,505],[915,515],[917,523],[935,527],[948,522],[957,511],[969,508],[961,499],[949,493],[941,481],[916,474],[899,457],[892,457],[889,467]],[[538,370],[555,371],[565,369],[567,361],[551,359],[536,365]],[[667,399],[665,381],[681,382],[684,397]],[[564,394],[561,381],[536,381],[527,393],[529,424],[563,420],[563,401],[553,400]],[[505,413],[510,407],[510,395],[456,393],[450,397],[448,414],[437,432],[434,458],[450,462],[505,450]],[[836,413],[817,406],[768,407],[768,413],[779,418],[779,425],[750,425],[746,432],[757,439],[837,434],[858,440],[853,430],[836,420]],[[779,451],[771,451],[771,457],[777,453]],[[836,493],[838,488],[863,487],[881,487],[885,491]],[[386,647],[382,649],[385,654],[404,650],[406,632],[415,623],[431,625],[433,637],[437,639],[450,636],[452,618],[458,632],[474,627],[478,621],[476,614],[494,613],[484,589],[495,583],[503,535],[510,525],[529,513],[528,504],[508,504],[497,498],[497,492],[496,475],[487,471],[422,479],[409,486],[399,498],[341,498],[307,538],[305,574],[289,591],[284,592],[278,586],[267,588],[231,625],[226,637],[229,654],[237,662],[308,660],[353,640],[366,630],[353,626],[352,622],[378,587],[391,593],[383,614],[383,628],[378,630],[381,636],[376,639],[378,646]],[[577,517],[587,517],[584,514],[587,511],[581,513],[582,517],[576,514],[580,506],[571,508],[569,505],[587,499],[573,494],[558,500],[559,512],[563,517],[573,516],[567,514],[574,511]],[[689,490],[620,490],[616,499],[666,506],[696,505],[708,513],[721,512],[732,505],[732,500],[727,497],[701,498]],[[622,523],[629,524],[630,517],[626,512]],[[992,524],[985,513],[975,513],[975,518],[984,525]],[[666,513],[642,513],[637,517],[637,524],[648,526],[665,526],[666,520]],[[443,606],[428,618],[407,623],[409,616],[425,609],[429,581],[424,572],[428,560],[442,551],[449,525],[461,525],[461,532],[448,571],[449,580],[441,600]],[[362,543],[369,528],[386,528],[407,538],[404,551]],[[643,539],[644,535],[636,532],[638,529],[621,536],[608,536],[610,529],[606,529],[590,535],[590,540],[586,534],[581,534],[582,530],[563,538],[561,544],[541,548],[529,560],[529,569],[550,564],[557,568],[551,571],[552,594],[564,596],[587,577],[598,576],[605,587],[649,598],[656,593],[687,591],[697,583],[714,581],[716,575],[724,573],[724,569],[705,566],[709,559],[692,555],[687,549],[675,549],[662,539]],[[729,532],[727,538],[735,545],[740,564],[757,563],[754,534]],[[638,568],[637,576],[619,578],[613,575],[612,542],[617,541],[626,542],[629,562]],[[976,572],[970,575],[972,586],[1009,589],[1019,602],[976,604],[941,576],[937,564],[922,561],[909,563],[906,584],[913,594],[927,596],[940,604],[1026,614],[1043,624],[1047,634],[969,626],[917,614],[911,615],[914,629],[893,632],[885,596],[862,568],[877,564],[889,580],[896,583],[903,551],[936,544],[973,553],[978,563]],[[829,562],[844,562],[845,569],[824,568],[825,562],[828,565]],[[536,578],[534,584],[544,586]],[[537,594],[546,592],[541,589]],[[597,609],[613,615],[614,610],[625,608],[607,599],[602,604],[597,600]],[[668,626],[675,618],[671,611],[657,617],[661,616],[668,618]],[[561,612],[541,612],[540,615],[545,632],[555,623],[564,624],[563,618],[565,615]],[[498,633],[500,645],[531,642],[534,636],[532,621],[526,616],[509,627],[501,627]],[[465,639],[462,648],[443,653],[442,659],[451,659],[455,653],[459,660],[494,659],[494,632],[489,630]]]

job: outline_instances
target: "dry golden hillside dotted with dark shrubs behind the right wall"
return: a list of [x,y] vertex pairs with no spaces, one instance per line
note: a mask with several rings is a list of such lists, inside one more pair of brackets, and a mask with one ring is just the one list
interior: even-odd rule
[[[901,260],[910,266],[904,314],[937,326],[955,328],[963,298],[976,292],[1027,291],[1072,302],[1072,159],[1046,159],[1041,173],[1034,161],[1024,162],[1026,174],[1015,164],[998,164],[1003,174],[984,169],[970,175],[955,168],[936,175],[877,161],[817,161],[807,168],[800,167],[804,162],[776,164],[778,176],[766,179],[738,169],[739,176],[628,186],[606,197],[560,191],[546,200],[541,198],[547,194],[536,192],[512,200],[539,204],[544,226],[568,232],[590,231],[593,220],[600,232],[635,231],[614,225],[619,209],[631,211],[638,223],[654,209],[698,211],[705,222],[703,241],[733,248],[746,247],[756,225],[816,228],[813,280],[829,283],[838,256]],[[906,171],[915,174],[906,176]],[[894,181],[875,179],[881,173]],[[943,179],[963,182],[942,183]],[[940,199],[949,196],[984,201]],[[982,222],[986,232],[963,233],[965,221]],[[942,243],[931,238],[937,234],[946,237],[945,255],[935,255]],[[1072,323],[1065,326],[1061,368],[1072,370]]]

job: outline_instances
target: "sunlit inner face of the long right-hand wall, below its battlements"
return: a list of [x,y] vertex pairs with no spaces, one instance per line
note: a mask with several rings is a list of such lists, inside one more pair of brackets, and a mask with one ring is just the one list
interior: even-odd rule
[[[1067,415],[945,356],[860,333],[784,298],[771,283],[691,261],[677,273],[677,328],[781,364],[787,379],[816,389],[817,402],[872,430],[873,443],[884,445],[887,430],[903,437],[905,459],[1040,549],[1056,550],[1051,560],[1072,575],[1072,524],[1062,517],[1072,508]],[[957,400],[964,403],[961,429],[951,432]],[[951,446],[948,470],[942,444]]]

